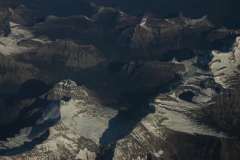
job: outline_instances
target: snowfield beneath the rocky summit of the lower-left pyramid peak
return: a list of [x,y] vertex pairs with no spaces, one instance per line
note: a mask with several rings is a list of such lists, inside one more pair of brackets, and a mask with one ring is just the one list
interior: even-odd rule
[[[65,85],[67,82],[69,81],[61,84]],[[74,154],[78,150],[78,139],[81,136],[98,144],[103,132],[108,128],[109,120],[116,116],[117,110],[103,107],[92,100],[89,97],[50,103],[42,109],[42,116],[33,127],[21,129],[15,137],[0,141],[0,150],[21,147],[25,142],[31,142],[32,136],[47,129],[50,130],[49,137],[42,144],[35,146],[36,149],[41,148],[41,152],[51,151],[61,155],[57,152],[62,146]],[[45,150],[42,150],[43,148]],[[87,149],[78,152],[76,159],[95,156],[95,153]]]

